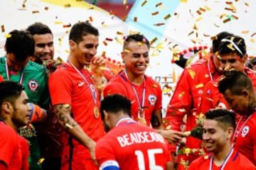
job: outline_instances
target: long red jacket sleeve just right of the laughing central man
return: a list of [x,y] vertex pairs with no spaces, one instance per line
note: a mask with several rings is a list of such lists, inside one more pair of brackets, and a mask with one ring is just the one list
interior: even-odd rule
[[190,84],[192,81],[188,69],[184,69],[166,111],[166,119],[169,120],[173,130],[181,130],[183,117],[190,112],[192,107],[193,98]]

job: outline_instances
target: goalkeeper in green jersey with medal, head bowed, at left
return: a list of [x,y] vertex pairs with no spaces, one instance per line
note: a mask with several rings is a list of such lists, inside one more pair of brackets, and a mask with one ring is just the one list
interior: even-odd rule
[[[4,77],[5,81],[15,81],[22,84],[30,103],[47,109],[50,100],[46,70],[40,64],[29,60],[34,54],[34,47],[35,41],[28,31],[12,30],[6,38],[6,56],[0,58],[0,74]],[[46,118],[46,115],[42,118]],[[26,130],[22,134],[23,137],[26,137],[31,144],[30,169],[42,169],[41,164],[38,164],[41,155],[36,134],[31,136],[28,135],[29,130],[26,128],[23,128],[23,130]]]

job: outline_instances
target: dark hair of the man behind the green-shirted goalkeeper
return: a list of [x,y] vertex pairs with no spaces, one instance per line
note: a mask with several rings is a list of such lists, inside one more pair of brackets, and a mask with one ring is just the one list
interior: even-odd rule
[[47,33],[50,33],[51,35],[53,35],[50,28],[46,26],[46,24],[44,23],[38,23],[38,22],[33,23],[30,26],[28,26],[26,30],[28,30],[29,33],[31,33],[31,35],[35,35],[35,34],[42,35]]

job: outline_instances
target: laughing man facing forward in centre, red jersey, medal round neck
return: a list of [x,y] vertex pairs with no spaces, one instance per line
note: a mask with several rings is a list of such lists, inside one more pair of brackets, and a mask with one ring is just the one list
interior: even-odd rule
[[103,89],[103,96],[120,94],[132,102],[132,118],[143,125],[150,125],[151,117],[156,118],[153,128],[163,129],[161,118],[161,86],[144,74],[149,65],[149,40],[144,35],[128,35],[124,40],[122,61],[125,68],[112,77]]

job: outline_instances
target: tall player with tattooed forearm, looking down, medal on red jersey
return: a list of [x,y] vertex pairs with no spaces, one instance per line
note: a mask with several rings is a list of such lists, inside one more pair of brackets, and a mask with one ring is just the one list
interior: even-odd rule
[[68,62],[49,78],[54,112],[67,132],[63,137],[61,169],[96,170],[95,142],[105,135],[97,91],[105,60],[95,57],[99,45],[97,28],[88,22],[75,23],[70,30],[69,45]]

